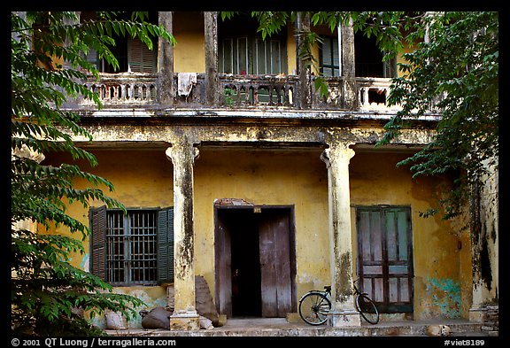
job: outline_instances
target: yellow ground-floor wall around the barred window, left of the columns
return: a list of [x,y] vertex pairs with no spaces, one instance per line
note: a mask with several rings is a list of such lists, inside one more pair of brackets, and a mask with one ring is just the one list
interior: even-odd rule
[[[173,189],[173,166],[166,159],[165,149],[160,151],[92,151],[99,162],[99,166],[90,168],[80,162],[82,170],[100,175],[113,183],[115,191],[107,193],[126,207],[164,207],[174,205]],[[66,163],[69,163],[69,159]],[[46,161],[44,163],[49,163]],[[58,163],[58,159],[51,159],[51,163]],[[84,187],[85,182],[76,182],[76,187]],[[89,187],[90,185],[88,185]],[[93,202],[92,206],[102,205],[101,202]],[[69,215],[89,226],[89,212],[81,205],[73,204],[68,208]],[[58,229],[60,233],[68,233]],[[80,238],[81,236],[74,236]],[[71,264],[75,267],[89,270],[89,241],[83,243],[85,254],[72,256]],[[115,292],[126,293],[141,298],[148,309],[157,305],[166,305],[166,289],[161,286],[154,287],[122,287],[116,288]],[[104,318],[96,317],[94,323],[104,327]],[[135,318],[130,325],[141,327],[141,317]]]

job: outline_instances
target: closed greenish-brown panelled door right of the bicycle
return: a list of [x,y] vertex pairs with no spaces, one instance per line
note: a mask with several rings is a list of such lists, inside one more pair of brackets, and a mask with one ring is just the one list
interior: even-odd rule
[[359,289],[379,310],[413,312],[411,209],[370,206],[356,209]]

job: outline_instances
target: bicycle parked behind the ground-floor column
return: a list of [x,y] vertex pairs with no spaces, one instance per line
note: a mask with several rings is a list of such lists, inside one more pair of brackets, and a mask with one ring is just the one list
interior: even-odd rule
[[[375,325],[379,322],[379,311],[368,297],[366,292],[359,292],[355,282],[352,282],[352,289],[356,297],[356,310],[370,324]],[[324,290],[310,290],[299,299],[299,316],[303,321],[310,325],[321,325],[328,321],[328,313],[331,310],[331,286],[327,285]]]

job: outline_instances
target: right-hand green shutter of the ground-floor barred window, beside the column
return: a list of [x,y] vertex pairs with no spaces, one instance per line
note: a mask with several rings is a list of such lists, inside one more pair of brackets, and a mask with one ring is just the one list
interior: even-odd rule
[[158,211],[158,283],[174,282],[174,207]]

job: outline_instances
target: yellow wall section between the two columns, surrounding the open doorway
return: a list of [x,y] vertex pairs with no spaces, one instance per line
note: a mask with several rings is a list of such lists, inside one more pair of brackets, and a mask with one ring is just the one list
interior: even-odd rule
[[328,179],[320,155],[321,151],[200,151],[195,164],[196,272],[204,275],[212,293],[217,198],[295,205],[298,296],[329,283]]

